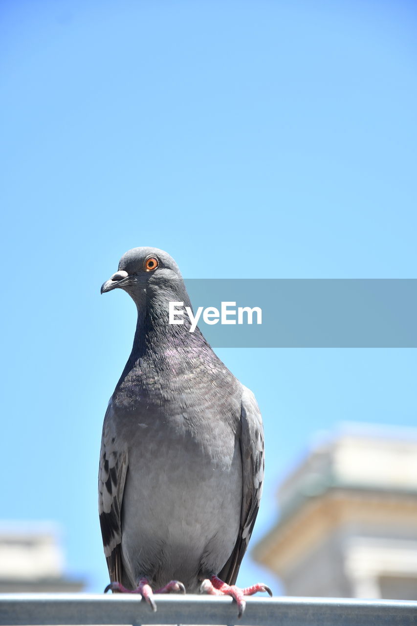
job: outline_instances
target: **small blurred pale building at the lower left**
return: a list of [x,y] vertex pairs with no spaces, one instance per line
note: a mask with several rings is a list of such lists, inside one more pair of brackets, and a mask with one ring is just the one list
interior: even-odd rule
[[64,575],[64,558],[54,525],[0,523],[0,593],[78,592],[82,580]]

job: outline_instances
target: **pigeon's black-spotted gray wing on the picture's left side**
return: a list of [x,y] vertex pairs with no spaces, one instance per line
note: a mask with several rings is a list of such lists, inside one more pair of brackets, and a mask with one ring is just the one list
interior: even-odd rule
[[128,454],[121,449],[114,431],[113,408],[108,405],[101,436],[98,472],[98,512],[101,536],[111,582],[122,583],[121,504],[125,489]]

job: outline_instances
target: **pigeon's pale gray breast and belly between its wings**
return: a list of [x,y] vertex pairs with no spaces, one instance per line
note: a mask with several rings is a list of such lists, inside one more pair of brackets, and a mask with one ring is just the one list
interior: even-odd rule
[[196,591],[199,573],[219,572],[239,532],[240,404],[221,386],[177,391],[142,389],[120,420],[128,448],[122,553],[133,583],[177,578]]

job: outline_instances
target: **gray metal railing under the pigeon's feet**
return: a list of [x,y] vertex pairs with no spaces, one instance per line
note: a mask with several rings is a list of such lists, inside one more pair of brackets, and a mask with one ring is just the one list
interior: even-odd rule
[[417,602],[345,598],[247,598],[237,618],[232,598],[207,595],[160,595],[153,613],[132,595],[83,593],[0,594],[0,624],[139,626],[207,624],[240,626],[416,626]]

